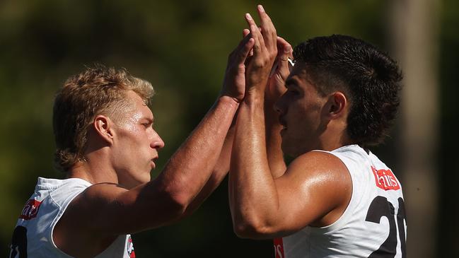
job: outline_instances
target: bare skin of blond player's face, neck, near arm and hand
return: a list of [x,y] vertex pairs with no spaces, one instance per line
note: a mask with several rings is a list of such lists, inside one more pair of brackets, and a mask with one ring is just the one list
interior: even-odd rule
[[230,127],[244,98],[244,63],[253,43],[245,37],[230,54],[221,95],[154,180],[150,170],[164,143],[139,95],[127,92],[132,110],[114,115],[122,122],[110,115],[94,118],[85,161],[68,175],[93,185],[71,201],[54,228],[52,238],[60,250],[94,257],[118,235],[167,225],[197,209],[228,172]]

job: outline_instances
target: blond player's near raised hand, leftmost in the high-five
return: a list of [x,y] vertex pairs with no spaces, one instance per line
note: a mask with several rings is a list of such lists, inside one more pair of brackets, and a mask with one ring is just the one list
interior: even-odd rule
[[244,30],[244,38],[240,41],[238,47],[228,56],[225,77],[223,79],[223,88],[221,95],[229,97],[240,102],[245,94],[245,61],[250,50],[255,44],[255,40]]

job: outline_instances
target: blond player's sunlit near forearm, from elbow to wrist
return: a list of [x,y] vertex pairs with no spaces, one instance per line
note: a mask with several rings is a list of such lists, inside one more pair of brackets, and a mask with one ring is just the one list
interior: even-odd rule
[[232,98],[220,97],[158,176],[185,209],[209,180],[237,108]]

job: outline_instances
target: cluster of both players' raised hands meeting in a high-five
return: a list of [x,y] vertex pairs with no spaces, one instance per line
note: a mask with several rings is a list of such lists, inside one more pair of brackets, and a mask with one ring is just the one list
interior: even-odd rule
[[260,28],[249,13],[245,14],[249,29],[243,30],[243,40],[228,57],[221,95],[240,102],[245,92],[255,90],[265,95],[267,102],[274,103],[285,91],[292,50],[289,42],[277,37],[276,28],[261,5],[257,12]]

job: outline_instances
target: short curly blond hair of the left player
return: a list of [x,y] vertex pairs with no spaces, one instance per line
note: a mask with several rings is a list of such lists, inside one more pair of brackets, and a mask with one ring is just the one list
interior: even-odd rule
[[129,105],[127,91],[133,90],[148,103],[154,94],[148,81],[131,76],[125,69],[96,64],[68,78],[57,92],[53,107],[53,129],[56,141],[54,165],[68,171],[78,161],[88,141],[88,128],[97,115],[116,119],[121,107]]

